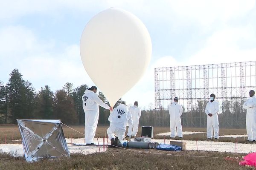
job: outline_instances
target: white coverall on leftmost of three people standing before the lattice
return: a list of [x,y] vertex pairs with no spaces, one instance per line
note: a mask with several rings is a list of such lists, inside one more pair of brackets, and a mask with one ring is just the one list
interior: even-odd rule
[[171,138],[176,136],[176,127],[177,127],[177,136],[182,137],[182,126],[180,116],[182,115],[182,107],[178,103],[175,105],[173,102],[169,107],[170,114],[170,129],[171,129]]

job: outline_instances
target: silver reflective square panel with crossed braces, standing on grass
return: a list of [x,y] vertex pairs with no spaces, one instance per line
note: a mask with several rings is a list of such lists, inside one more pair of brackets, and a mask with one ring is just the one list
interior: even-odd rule
[[26,161],[70,156],[61,120],[17,119]]

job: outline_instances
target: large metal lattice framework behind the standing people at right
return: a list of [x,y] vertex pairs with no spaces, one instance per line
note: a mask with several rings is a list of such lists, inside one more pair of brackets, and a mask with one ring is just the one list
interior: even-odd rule
[[190,113],[191,121],[183,116],[183,123],[191,122],[191,126],[206,121],[204,105],[212,93],[221,105],[221,114],[226,115],[223,123],[242,123],[239,113],[245,111],[241,106],[249,91],[256,90],[256,61],[155,68],[154,72],[155,110],[168,110],[177,96],[184,112]]

